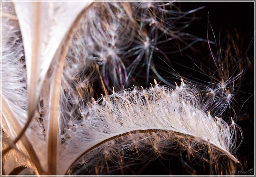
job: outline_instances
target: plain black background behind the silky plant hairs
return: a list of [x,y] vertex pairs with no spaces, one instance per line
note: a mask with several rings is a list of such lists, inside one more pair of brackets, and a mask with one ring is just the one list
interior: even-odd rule
[[[221,46],[223,47],[225,46],[224,44],[227,39],[227,34],[232,34],[233,38],[237,42],[237,45],[242,48],[242,54],[247,53],[248,59],[252,63],[253,68],[248,68],[243,83],[241,84],[242,86],[239,89],[241,92],[238,92],[235,96],[235,98],[239,100],[235,104],[237,105],[237,114],[245,114],[236,122],[244,132],[244,141],[238,149],[236,155],[238,160],[240,160],[243,164],[243,171],[250,171],[251,173],[249,174],[254,174],[254,2],[176,2],[175,4],[180,8],[181,11],[184,12],[204,6],[203,9],[190,15],[194,15],[196,19],[194,19],[190,26],[182,30],[182,32],[207,40],[207,25],[209,22],[209,24],[212,26],[211,28],[209,25],[208,32],[210,41],[214,41],[216,39],[217,42],[220,41]],[[208,12],[209,21],[207,15]],[[236,40],[235,31],[237,31],[239,41]],[[215,38],[213,33],[215,34]],[[182,77],[184,76],[183,78],[187,77],[192,79],[194,82],[200,82],[205,78],[204,76],[201,76],[199,72],[192,70],[196,67],[194,66],[191,58],[200,61],[205,60],[207,62],[207,60],[209,60],[210,53],[209,46],[207,42],[197,42],[192,47],[196,50],[188,48],[182,53],[172,53],[168,55],[168,57],[173,65],[173,68],[179,71],[179,74]],[[214,49],[214,45],[211,45],[211,47]],[[173,77],[171,71],[168,70],[168,65],[159,60],[157,55],[154,55],[153,57],[154,65],[156,66],[156,70],[159,72],[159,74],[169,83],[180,83],[180,79]],[[245,58],[245,56],[243,56],[243,58]],[[133,59],[134,58],[131,58],[131,61],[133,61]],[[142,70],[141,73],[136,76],[135,82],[133,83],[133,81],[131,81],[129,86],[132,87],[132,84],[134,84],[141,85],[144,88],[149,88],[149,83],[154,83],[154,78],[157,80],[157,82],[160,82],[161,85],[168,85],[164,81],[161,81],[152,71],[149,73],[149,83],[145,83],[145,73],[146,69]],[[98,85],[101,85],[101,83],[98,83]],[[98,89],[100,88],[101,87],[99,86]],[[103,93],[103,90],[100,92]],[[109,94],[111,94],[111,88],[109,90]],[[97,98],[97,96],[95,98]],[[130,166],[125,174],[210,174],[209,166],[207,166],[206,163],[197,165],[195,162],[190,162],[187,160],[186,156],[187,152],[182,150],[180,153],[176,153],[176,155],[163,155],[163,158],[158,158],[152,162],[145,162],[139,166]],[[118,171],[117,174],[120,174],[120,171]]]

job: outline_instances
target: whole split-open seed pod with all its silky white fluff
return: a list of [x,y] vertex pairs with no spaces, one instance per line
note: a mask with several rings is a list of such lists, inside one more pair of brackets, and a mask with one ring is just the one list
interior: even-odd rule
[[[202,8],[180,12],[173,2],[2,5],[4,174],[19,166],[36,175],[74,174],[81,165],[101,174],[177,150],[191,161],[212,165],[226,158],[231,169],[240,163],[243,131],[233,117],[226,122],[221,115],[242,71],[204,89],[183,78],[172,89],[148,77],[152,70],[164,80],[152,64],[153,52],[167,58],[157,47],[163,37],[207,41],[174,26]],[[192,22],[187,19],[184,26]],[[141,61],[154,84],[125,89]],[[216,73],[222,76],[223,69]],[[95,81],[105,92],[99,99],[93,98]]]

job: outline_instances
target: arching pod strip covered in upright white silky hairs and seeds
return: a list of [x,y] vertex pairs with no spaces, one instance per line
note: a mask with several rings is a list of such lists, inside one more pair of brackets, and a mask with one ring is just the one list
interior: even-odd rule
[[[165,139],[167,144],[182,142],[180,145],[192,156],[206,154],[210,148],[212,153],[209,154],[209,161],[217,160],[218,153],[215,151],[229,154],[231,157],[231,150],[235,145],[233,137],[230,136],[231,132],[236,131],[233,127],[234,122],[229,126],[221,118],[207,115],[201,109],[203,107],[201,100],[197,88],[184,83],[180,87],[177,86],[174,92],[160,85],[149,89],[133,88],[113,92],[112,95],[93,101],[86,107],[79,107],[81,112],[77,117],[72,118],[70,126],[61,136],[64,150],[60,162],[72,162],[80,156],[79,153],[87,152],[94,145],[134,130],[154,130],[160,135],[161,132],[166,131],[169,135]],[[157,144],[161,138],[155,136],[152,139]],[[111,148],[122,151],[122,148],[127,149],[127,146],[130,146],[130,142],[132,139],[129,138],[123,142],[118,141],[111,144]],[[155,144],[151,141],[145,144],[154,149]],[[198,146],[202,146],[202,149],[195,154]],[[157,148],[165,147],[159,144]],[[102,149],[104,147],[98,151],[101,152]],[[84,161],[91,158],[93,157],[89,155],[83,157]],[[238,162],[236,158],[233,160]],[[66,165],[71,164],[62,164],[64,169]],[[59,172],[61,171],[62,169]]]

